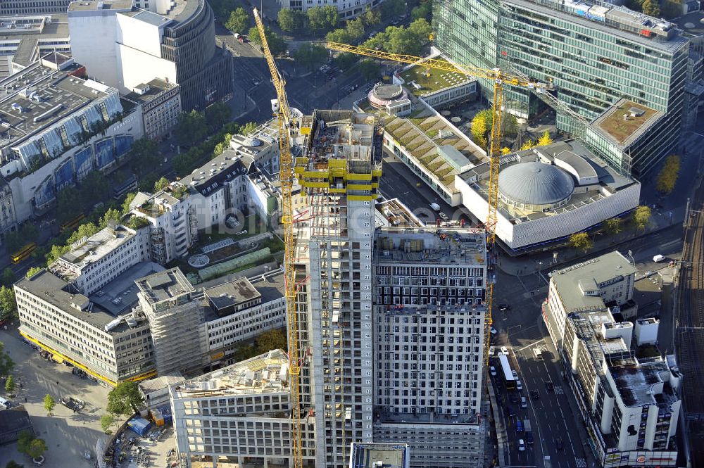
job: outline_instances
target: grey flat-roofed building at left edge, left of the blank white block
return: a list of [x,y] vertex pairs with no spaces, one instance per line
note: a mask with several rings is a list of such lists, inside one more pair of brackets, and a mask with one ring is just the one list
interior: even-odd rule
[[48,53],[70,51],[65,13],[0,16],[0,77],[19,72]]

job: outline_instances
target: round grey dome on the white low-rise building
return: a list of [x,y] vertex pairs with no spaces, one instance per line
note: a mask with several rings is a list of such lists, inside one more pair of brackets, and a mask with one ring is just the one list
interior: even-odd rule
[[567,204],[574,192],[572,176],[555,165],[529,162],[510,165],[498,174],[498,196],[507,205],[529,211]]

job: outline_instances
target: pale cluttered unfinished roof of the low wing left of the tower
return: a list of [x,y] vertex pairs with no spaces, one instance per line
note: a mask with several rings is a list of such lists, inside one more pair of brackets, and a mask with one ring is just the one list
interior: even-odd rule
[[287,392],[288,379],[289,359],[277,349],[184,381],[174,390],[177,398]]

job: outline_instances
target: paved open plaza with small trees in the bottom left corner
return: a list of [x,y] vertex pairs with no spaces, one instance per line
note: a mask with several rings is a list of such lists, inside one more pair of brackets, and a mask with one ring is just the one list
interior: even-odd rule
[[[108,388],[71,374],[71,367],[42,358],[38,351],[23,342],[14,328],[0,331],[0,341],[15,362],[12,372],[15,380],[22,384],[13,402],[25,406],[35,433],[46,441],[49,448],[44,454],[45,465],[52,468],[92,467],[93,460],[86,460],[84,453],[89,451],[94,458],[97,439],[107,438],[101,430],[100,417],[105,413]],[[51,417],[44,410],[43,400],[47,393],[56,400]],[[61,398],[68,397],[86,402],[81,414],[61,405]],[[18,453],[17,443],[3,445],[0,450],[0,467],[9,460],[25,464],[25,467],[32,465],[31,460]]]

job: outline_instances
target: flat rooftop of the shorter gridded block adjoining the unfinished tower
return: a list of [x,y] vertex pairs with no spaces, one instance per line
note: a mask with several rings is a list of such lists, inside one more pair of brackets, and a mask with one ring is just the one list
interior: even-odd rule
[[474,228],[387,227],[375,236],[375,259],[394,263],[484,265],[486,232]]

